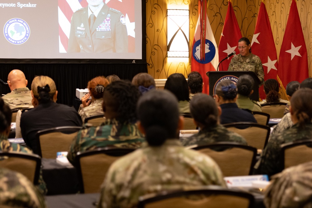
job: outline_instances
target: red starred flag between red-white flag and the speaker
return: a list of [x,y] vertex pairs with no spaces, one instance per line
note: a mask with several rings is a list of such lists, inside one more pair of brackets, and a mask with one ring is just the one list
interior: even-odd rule
[[[232,3],[228,0],[227,15],[224,20],[224,26],[219,42],[219,60],[224,59],[233,51],[239,54],[238,40],[241,39],[241,30],[239,29]],[[222,61],[219,65],[219,71],[227,71],[233,56]]]

